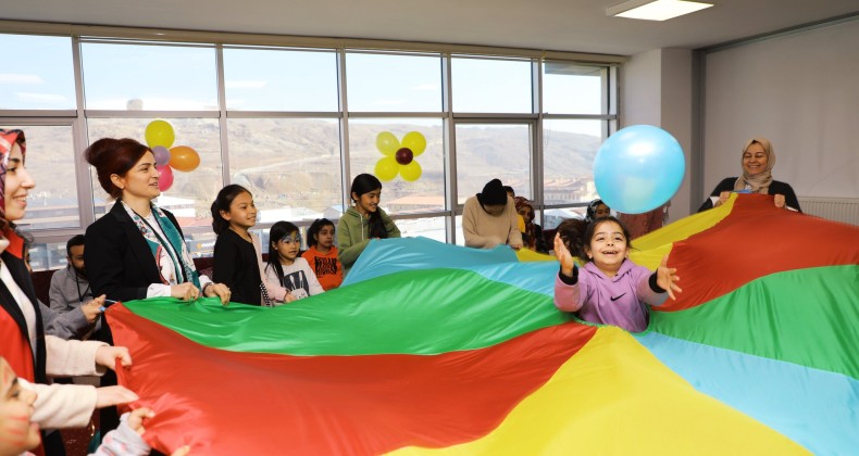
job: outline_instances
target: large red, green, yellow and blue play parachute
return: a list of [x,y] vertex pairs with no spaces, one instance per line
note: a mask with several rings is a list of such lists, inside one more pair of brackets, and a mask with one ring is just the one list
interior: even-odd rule
[[287,306],[113,306],[120,381],[165,453],[859,447],[859,228],[743,195],[634,244],[650,268],[670,252],[684,290],[643,333],[558,312],[555,262],[385,240]]

